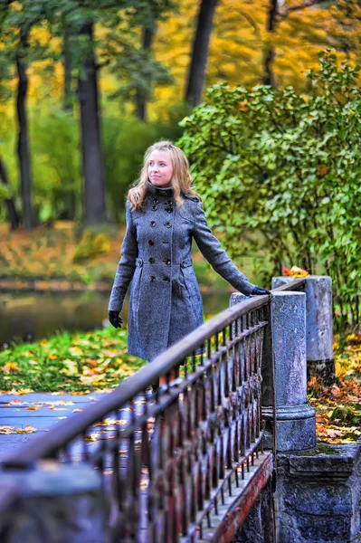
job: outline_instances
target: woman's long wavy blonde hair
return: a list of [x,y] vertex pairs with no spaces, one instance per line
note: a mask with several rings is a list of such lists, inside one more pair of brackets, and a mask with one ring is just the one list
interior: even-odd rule
[[142,209],[144,200],[147,197],[147,167],[149,163],[149,157],[153,151],[168,151],[173,165],[173,177],[172,186],[175,189],[174,199],[179,207],[183,205],[183,198],[181,193],[189,196],[198,196],[195,189],[192,187],[193,179],[189,172],[189,163],[185,157],[185,153],[182,149],[177,148],[171,141],[157,141],[149,148],[147,148],[144,156],[144,163],[140,175],[136,181],[135,186],[128,190],[128,202],[130,202],[132,209]]

